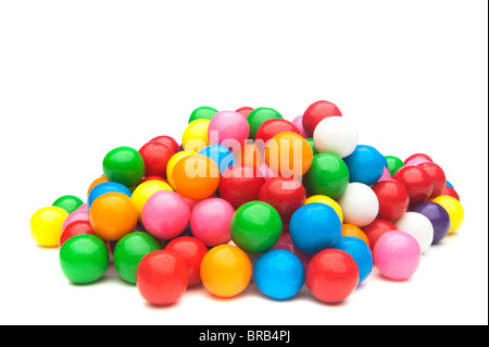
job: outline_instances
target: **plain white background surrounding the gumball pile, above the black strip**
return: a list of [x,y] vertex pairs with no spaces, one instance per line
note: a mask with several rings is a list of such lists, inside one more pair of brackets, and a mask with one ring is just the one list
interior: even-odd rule
[[[2,1],[2,324],[487,324],[487,1]],[[335,102],[360,142],[431,156],[465,208],[416,274],[376,272],[341,305],[254,284],[234,299],[191,288],[153,308],[113,269],[70,284],[30,215],[86,197],[104,154],[180,139],[200,106],[272,107],[292,120]]]

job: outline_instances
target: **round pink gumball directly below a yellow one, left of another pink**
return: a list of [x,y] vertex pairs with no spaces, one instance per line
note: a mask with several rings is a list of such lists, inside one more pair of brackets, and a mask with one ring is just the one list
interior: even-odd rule
[[180,195],[170,190],[153,194],[141,212],[142,225],[148,233],[163,239],[179,236],[189,219],[189,203]]

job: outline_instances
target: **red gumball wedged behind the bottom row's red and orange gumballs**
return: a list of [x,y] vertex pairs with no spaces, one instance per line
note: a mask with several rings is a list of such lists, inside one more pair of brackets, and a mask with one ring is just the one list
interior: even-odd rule
[[188,286],[193,286],[201,282],[200,264],[208,252],[208,247],[195,237],[180,236],[172,239],[165,247],[184,259],[188,273]]

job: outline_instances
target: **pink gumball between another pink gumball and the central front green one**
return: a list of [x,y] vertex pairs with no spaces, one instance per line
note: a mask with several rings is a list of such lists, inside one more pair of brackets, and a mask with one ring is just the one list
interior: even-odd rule
[[234,213],[233,206],[221,198],[198,202],[190,213],[192,235],[206,246],[227,244],[231,238],[229,224]]

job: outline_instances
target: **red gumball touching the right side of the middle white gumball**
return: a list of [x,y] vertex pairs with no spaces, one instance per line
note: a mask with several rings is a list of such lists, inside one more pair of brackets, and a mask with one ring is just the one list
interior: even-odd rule
[[394,181],[387,179],[376,183],[372,190],[378,199],[378,218],[393,221],[401,218],[410,205],[410,196],[405,187]]

